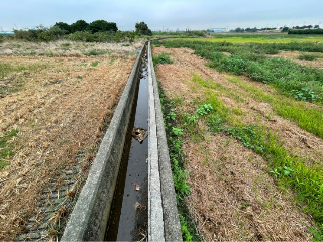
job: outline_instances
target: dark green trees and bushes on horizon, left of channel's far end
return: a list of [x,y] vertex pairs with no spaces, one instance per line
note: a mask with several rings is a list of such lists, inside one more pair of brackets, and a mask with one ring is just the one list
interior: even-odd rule
[[56,22],[47,28],[39,25],[34,29],[14,29],[15,39],[27,41],[53,41],[56,39],[80,40],[86,42],[122,42],[134,41],[136,36],[152,35],[151,30],[145,22],[135,24],[135,31],[120,31],[117,24],[105,20],[95,20],[87,23],[78,20],[71,25],[64,22]]

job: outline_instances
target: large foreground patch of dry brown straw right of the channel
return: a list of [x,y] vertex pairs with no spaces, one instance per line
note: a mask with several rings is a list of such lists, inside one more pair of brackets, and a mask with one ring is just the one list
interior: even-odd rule
[[[203,149],[210,151],[207,162]],[[292,195],[279,192],[260,156],[224,134],[184,150],[192,188],[187,206],[206,241],[311,241],[311,218],[293,206]]]

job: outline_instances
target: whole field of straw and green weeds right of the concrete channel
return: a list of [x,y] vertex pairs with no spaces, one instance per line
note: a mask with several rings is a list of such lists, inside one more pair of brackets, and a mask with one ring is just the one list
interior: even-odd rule
[[321,47],[154,42],[186,241],[323,238]]

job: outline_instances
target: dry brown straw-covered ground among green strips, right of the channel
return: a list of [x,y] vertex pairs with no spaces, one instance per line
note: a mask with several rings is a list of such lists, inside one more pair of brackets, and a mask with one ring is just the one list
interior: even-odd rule
[[[156,76],[168,97],[183,98],[183,110],[179,111],[194,111],[194,99],[205,98],[206,88],[196,87],[192,81],[197,74],[228,90],[230,94],[213,91],[227,107],[243,112],[245,123],[265,125],[284,141],[291,155],[303,157],[307,164],[323,163],[322,139],[275,114],[270,104],[251,98],[248,91],[230,81],[233,76],[207,68],[206,60],[193,50],[153,48],[153,54],[161,52],[171,53],[174,64],[157,65]],[[239,78],[267,94],[276,93],[270,86]],[[235,95],[242,101],[238,102]],[[201,121],[198,129],[205,130],[203,141],[196,143],[188,138],[183,147],[192,189],[186,203],[206,241],[311,241],[307,226],[313,226],[312,218],[294,205],[293,192],[278,188],[261,156],[225,133],[213,135],[206,131]]]

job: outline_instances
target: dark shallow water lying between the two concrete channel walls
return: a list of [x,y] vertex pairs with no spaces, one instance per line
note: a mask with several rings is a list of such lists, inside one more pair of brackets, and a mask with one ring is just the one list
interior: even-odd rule
[[[127,131],[121,167],[105,241],[139,240],[139,229],[148,223],[148,137],[140,144],[131,136],[133,127],[148,130],[148,71],[147,54],[141,63],[138,94],[135,96]],[[149,134],[148,134],[149,136]],[[135,190],[136,183],[140,190]],[[135,208],[137,204],[137,209]]]

